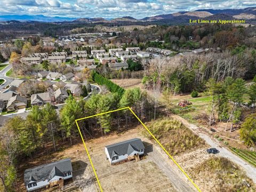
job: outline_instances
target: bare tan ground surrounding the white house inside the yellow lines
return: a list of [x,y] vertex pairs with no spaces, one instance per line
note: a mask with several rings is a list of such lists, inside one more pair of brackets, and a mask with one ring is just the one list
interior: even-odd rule
[[[131,138],[141,138],[146,156],[139,162],[110,165],[104,147]],[[103,191],[196,191],[164,151],[133,129],[86,143]],[[98,188],[99,190],[99,188]]]

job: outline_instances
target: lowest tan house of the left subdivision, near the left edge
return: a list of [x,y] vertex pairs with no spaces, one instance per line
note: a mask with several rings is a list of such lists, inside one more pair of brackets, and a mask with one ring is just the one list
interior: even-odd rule
[[21,97],[20,95],[14,95],[11,99],[9,99],[6,109],[7,111],[24,109],[27,107],[27,98]]

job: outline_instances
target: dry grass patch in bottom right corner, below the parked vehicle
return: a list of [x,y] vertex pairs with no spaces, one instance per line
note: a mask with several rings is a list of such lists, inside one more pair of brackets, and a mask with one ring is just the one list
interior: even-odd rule
[[224,157],[210,157],[192,167],[189,173],[204,191],[255,191],[253,181],[245,172]]

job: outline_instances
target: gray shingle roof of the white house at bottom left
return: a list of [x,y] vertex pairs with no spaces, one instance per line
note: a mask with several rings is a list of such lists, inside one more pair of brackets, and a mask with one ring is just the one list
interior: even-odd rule
[[[70,158],[61,159],[60,161],[49,164],[39,165],[37,167],[27,169],[24,172],[25,185],[31,181],[44,181],[52,178],[52,175],[64,175],[67,172],[72,172],[72,165]],[[54,177],[54,176],[53,176]]]

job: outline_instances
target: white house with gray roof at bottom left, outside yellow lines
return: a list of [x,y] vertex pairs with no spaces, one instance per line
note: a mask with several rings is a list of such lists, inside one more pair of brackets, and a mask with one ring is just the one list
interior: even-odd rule
[[42,187],[63,187],[64,181],[73,178],[73,169],[70,158],[37,167],[26,169],[24,172],[24,183],[27,191]]

